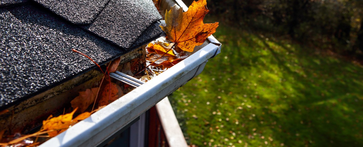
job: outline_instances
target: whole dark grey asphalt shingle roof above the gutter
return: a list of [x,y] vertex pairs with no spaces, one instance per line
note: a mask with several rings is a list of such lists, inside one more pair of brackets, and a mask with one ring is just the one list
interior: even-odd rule
[[61,7],[82,8],[83,2],[54,6],[37,1],[0,1],[0,111],[96,68],[71,49],[105,64],[163,34],[151,0],[91,1],[105,6],[75,10],[79,19],[64,16],[68,13]]

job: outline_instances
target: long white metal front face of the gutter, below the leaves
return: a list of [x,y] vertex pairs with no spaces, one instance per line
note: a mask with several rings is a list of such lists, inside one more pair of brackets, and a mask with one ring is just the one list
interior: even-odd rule
[[40,146],[97,146],[103,143],[199,75],[208,59],[220,53],[220,48],[221,44],[212,35],[209,36],[199,51]]

